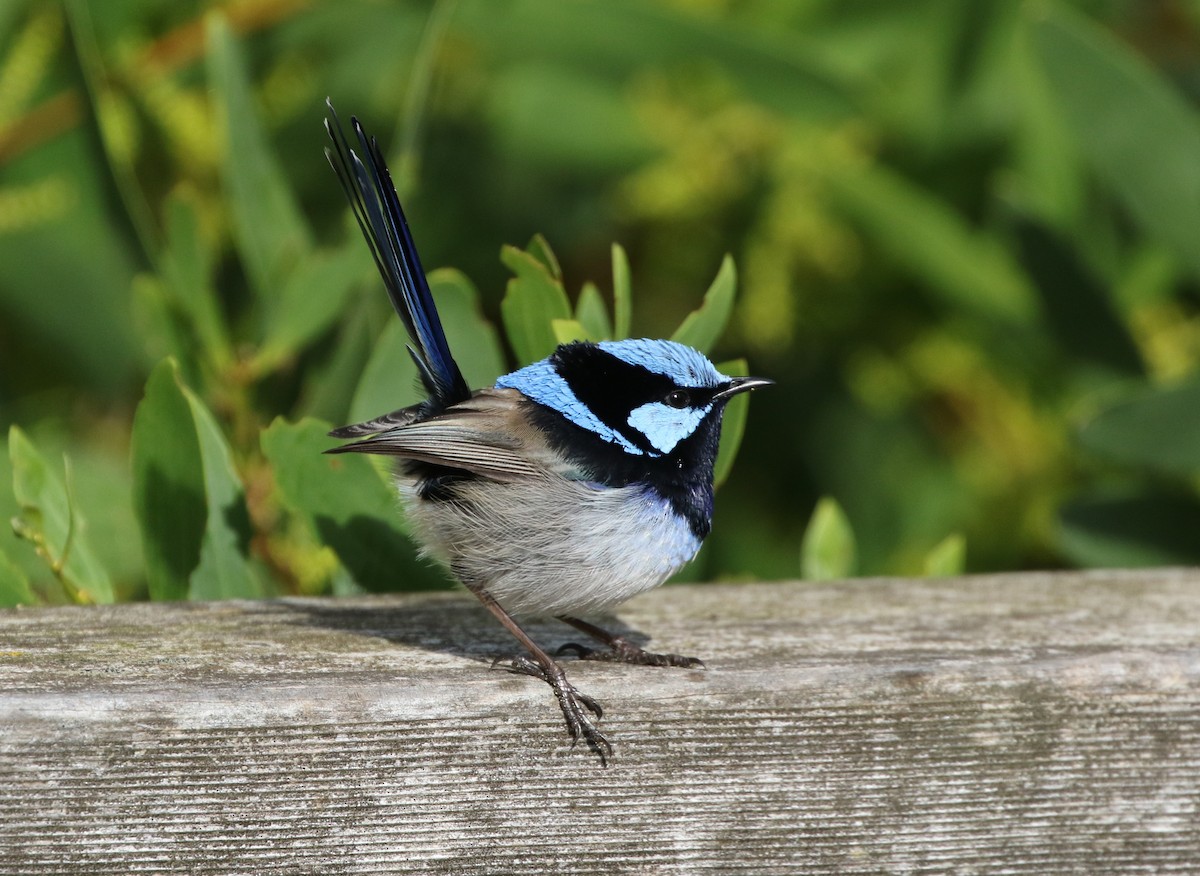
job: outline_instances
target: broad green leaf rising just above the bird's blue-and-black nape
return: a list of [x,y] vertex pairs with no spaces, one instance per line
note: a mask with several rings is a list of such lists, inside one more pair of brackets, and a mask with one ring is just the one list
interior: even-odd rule
[[570,319],[571,304],[563,284],[535,256],[505,246],[500,260],[516,276],[509,281],[500,316],[518,365],[528,365],[554,352],[554,319]]

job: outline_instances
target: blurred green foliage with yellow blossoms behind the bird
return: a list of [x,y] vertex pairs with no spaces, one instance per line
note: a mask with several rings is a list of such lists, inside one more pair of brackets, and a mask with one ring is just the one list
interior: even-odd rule
[[779,382],[685,575],[1200,562],[1195,0],[10,0],[0,604],[443,582],[320,454],[415,401],[326,95],[474,385]]

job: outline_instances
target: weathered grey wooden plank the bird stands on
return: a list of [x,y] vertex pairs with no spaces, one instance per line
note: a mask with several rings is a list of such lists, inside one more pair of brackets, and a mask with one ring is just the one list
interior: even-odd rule
[[468,596],[0,613],[0,872],[1200,872],[1200,571],[620,618],[601,769]]

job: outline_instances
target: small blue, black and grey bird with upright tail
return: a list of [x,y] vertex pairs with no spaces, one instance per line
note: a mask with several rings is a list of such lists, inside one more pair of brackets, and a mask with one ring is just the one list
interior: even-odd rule
[[[726,402],[766,386],[726,377],[672,341],[574,342],[472,391],[446,344],[388,166],[356,118],[360,152],[332,103],[325,156],[350,202],[428,397],[330,432],[326,452],[395,456],[395,481],[424,553],[444,563],[526,648],[509,668],[551,686],[571,744],[607,764],[600,704],[517,624],[553,616],[604,646],[583,659],[701,667],[653,654],[581,619],[659,586],[695,557],[713,515]],[[500,662],[499,660],[497,664]],[[494,664],[493,664],[494,665]]]

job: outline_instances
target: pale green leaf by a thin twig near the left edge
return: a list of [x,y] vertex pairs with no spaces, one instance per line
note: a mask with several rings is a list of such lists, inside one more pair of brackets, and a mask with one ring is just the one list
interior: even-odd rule
[[8,430],[12,491],[20,511],[17,534],[30,541],[76,602],[112,602],[113,583],[88,535],[88,522],[66,481],[50,468],[25,433]]

